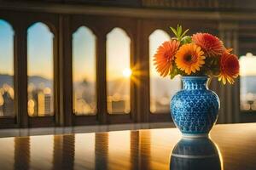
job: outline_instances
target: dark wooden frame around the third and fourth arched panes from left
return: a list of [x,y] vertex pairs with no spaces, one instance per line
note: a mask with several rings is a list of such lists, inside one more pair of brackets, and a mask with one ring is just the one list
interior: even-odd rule
[[[95,22],[97,20],[98,22]],[[109,22],[108,26],[102,27],[99,23]],[[134,21],[133,21],[134,22]],[[128,27],[128,29],[125,26]],[[112,123],[126,123],[134,122],[132,118],[132,104],[130,114],[108,114],[107,111],[107,35],[113,28],[119,27],[124,30],[128,37],[131,39],[131,56],[133,54],[132,38],[131,38],[131,25],[128,25],[125,20],[115,17],[98,17],[98,16],[85,16],[85,15],[72,15],[71,17],[71,33],[79,29],[80,26],[86,26],[89,28],[96,37],[96,115],[95,116],[76,116],[73,114],[73,97],[72,97],[72,119],[73,125],[91,125],[91,124],[112,124]],[[70,46],[72,47],[72,41]],[[72,57],[72,51],[69,54]],[[131,57],[132,58],[132,57]],[[131,59],[132,60],[132,59]],[[132,63],[132,61],[131,61]],[[132,64],[131,64],[132,65]],[[71,64],[72,67],[72,64]],[[72,68],[71,68],[72,71]],[[71,73],[72,74],[72,73]],[[71,81],[73,82],[73,81]],[[132,83],[132,82],[131,82]],[[132,85],[131,85],[132,87]],[[73,89],[73,84],[72,84]],[[131,88],[132,91],[132,88]],[[132,95],[132,93],[131,93]],[[73,96],[73,92],[72,95]],[[132,97],[131,97],[132,99]]]

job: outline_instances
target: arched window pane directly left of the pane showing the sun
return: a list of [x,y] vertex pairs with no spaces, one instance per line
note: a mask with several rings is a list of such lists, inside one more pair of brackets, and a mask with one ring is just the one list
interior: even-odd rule
[[73,33],[73,113],[96,114],[96,37],[85,26]]

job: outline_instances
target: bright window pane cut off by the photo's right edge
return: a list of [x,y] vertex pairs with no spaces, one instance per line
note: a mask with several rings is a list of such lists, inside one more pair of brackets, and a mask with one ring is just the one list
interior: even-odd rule
[[240,58],[241,110],[256,111],[256,56],[247,53]]

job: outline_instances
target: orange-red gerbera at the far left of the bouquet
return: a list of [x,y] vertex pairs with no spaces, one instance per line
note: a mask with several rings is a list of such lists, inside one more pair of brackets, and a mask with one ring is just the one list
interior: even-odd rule
[[177,40],[163,42],[154,54],[154,65],[161,77],[166,77],[172,71],[172,61],[178,47]]

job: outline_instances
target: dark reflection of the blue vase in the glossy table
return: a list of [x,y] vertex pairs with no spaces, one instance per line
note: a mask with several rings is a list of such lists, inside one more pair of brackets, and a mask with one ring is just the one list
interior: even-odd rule
[[181,139],[172,150],[171,170],[224,169],[216,144],[209,138]]

